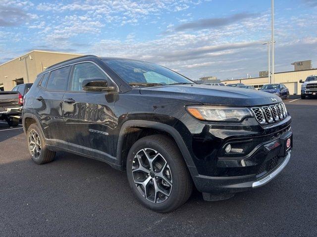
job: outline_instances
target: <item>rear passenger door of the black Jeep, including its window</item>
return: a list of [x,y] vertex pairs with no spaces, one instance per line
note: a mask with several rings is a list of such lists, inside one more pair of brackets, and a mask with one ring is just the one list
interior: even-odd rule
[[67,147],[63,142],[65,133],[61,101],[67,89],[70,69],[71,66],[65,66],[45,75],[33,103],[33,111],[40,119],[46,138],[51,139],[51,145]]

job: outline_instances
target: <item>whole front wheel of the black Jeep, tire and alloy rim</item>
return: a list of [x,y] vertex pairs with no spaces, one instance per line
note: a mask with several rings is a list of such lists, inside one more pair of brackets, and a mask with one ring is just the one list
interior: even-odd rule
[[138,140],[127,157],[130,187],[139,201],[157,212],[169,212],[191,196],[193,183],[175,142],[165,135]]

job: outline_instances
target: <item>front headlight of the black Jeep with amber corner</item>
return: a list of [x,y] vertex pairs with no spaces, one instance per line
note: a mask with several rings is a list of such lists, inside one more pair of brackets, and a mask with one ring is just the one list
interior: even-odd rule
[[187,106],[187,111],[195,118],[206,121],[240,122],[244,118],[253,117],[245,107],[227,106]]

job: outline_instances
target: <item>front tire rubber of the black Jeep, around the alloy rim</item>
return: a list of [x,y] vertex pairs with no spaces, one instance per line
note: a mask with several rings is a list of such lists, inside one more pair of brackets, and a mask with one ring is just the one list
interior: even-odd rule
[[[136,153],[138,153],[142,149],[153,149],[157,151],[161,154],[161,156],[166,160],[168,164],[168,169],[172,177],[172,188],[169,196],[166,196],[167,199],[160,203],[146,199],[138,190],[137,185],[134,182],[132,168],[135,164],[133,164],[133,160],[136,157]],[[151,135],[143,137],[140,140],[136,141],[131,147],[128,154],[126,168],[128,181],[133,193],[143,205],[153,211],[170,212],[172,210],[175,210],[176,208],[184,204],[192,194],[193,182],[187,169],[186,163],[177,145],[168,136],[159,134]],[[148,176],[148,178],[151,177],[152,175]],[[153,181],[155,180],[153,179]],[[151,180],[150,182],[153,183],[153,181]],[[160,183],[157,182],[157,184]]]

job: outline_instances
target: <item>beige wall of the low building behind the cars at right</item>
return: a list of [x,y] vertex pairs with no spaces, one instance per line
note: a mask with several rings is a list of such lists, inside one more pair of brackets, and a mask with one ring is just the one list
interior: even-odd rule
[[[283,83],[288,89],[290,94],[301,93],[301,83],[299,80],[305,80],[308,76],[317,75],[317,69],[304,70],[304,71],[292,71],[282,72],[274,74],[274,82],[272,83]],[[268,78],[247,78],[247,79],[235,79],[235,80],[223,80],[224,84],[231,83],[243,83],[246,85],[259,86],[268,84]]]

